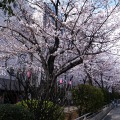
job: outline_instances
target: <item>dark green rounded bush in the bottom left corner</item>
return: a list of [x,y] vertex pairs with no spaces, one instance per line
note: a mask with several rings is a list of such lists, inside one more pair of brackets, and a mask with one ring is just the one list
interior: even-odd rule
[[13,104],[1,104],[0,120],[34,120],[34,117],[24,107]]

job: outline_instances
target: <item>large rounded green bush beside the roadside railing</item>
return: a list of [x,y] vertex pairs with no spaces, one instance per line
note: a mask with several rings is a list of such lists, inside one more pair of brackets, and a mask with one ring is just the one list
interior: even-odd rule
[[95,112],[104,104],[101,89],[90,85],[79,85],[73,89],[73,102],[78,107],[79,115]]

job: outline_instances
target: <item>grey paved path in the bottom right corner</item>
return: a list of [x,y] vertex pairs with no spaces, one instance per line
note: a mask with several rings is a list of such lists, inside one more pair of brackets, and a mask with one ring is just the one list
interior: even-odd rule
[[120,120],[120,106],[111,110],[103,120]]

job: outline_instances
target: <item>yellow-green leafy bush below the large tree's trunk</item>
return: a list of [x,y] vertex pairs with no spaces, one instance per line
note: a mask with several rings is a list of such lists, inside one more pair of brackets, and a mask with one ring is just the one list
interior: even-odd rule
[[64,120],[64,110],[57,104],[50,101],[26,100],[17,103],[24,106],[31,112],[37,120]]

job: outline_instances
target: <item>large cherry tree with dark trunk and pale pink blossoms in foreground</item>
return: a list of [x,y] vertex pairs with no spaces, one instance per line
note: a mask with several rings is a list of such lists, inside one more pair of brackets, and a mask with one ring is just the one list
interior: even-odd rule
[[[13,17],[0,24],[2,58],[26,53],[44,71],[48,93],[56,79],[92,56],[105,52],[117,40],[119,23],[111,16],[119,1],[16,1]],[[111,22],[109,24],[109,22]],[[4,46],[4,47],[3,47]],[[3,54],[5,53],[5,54]],[[4,55],[4,56],[3,56]],[[50,88],[53,88],[50,90]]]

